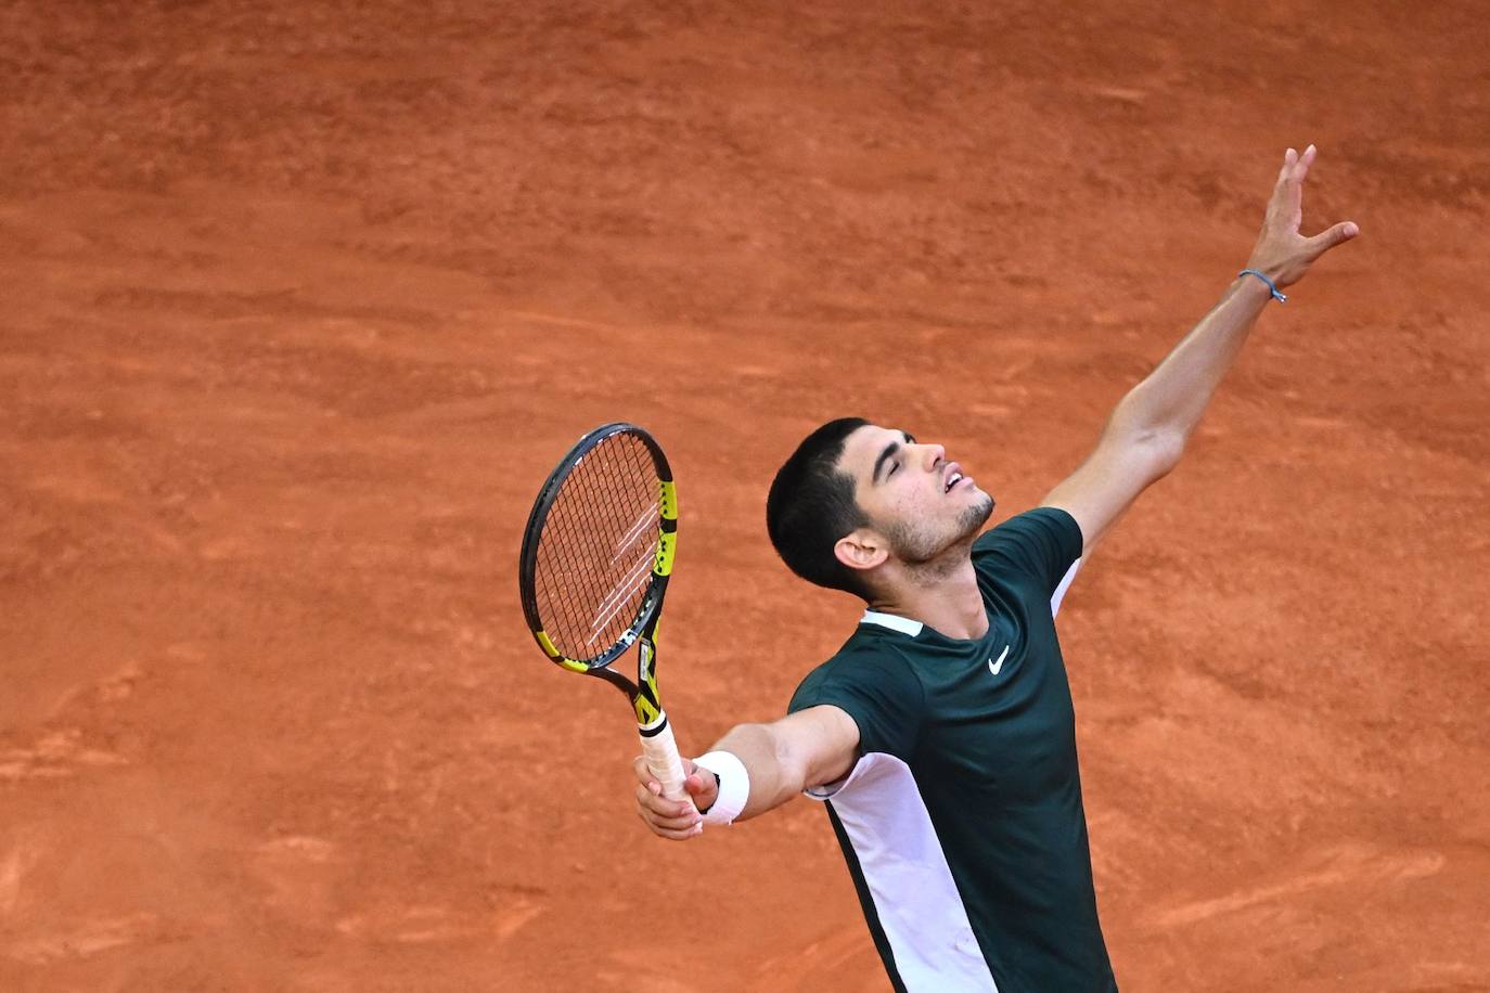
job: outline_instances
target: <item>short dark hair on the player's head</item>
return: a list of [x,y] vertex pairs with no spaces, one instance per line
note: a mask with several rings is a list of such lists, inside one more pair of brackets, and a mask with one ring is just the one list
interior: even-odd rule
[[864,579],[833,554],[837,539],[869,524],[854,499],[854,476],[837,469],[845,439],[866,424],[863,417],[840,417],[797,445],[770,484],[766,531],[791,572],[869,600]]

